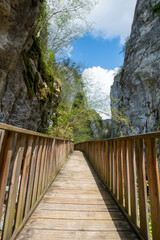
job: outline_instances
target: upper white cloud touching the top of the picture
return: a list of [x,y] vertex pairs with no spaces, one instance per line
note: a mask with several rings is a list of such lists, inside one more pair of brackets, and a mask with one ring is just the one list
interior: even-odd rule
[[136,0],[99,0],[88,16],[94,22],[94,37],[113,39],[120,36],[121,43],[130,34]]

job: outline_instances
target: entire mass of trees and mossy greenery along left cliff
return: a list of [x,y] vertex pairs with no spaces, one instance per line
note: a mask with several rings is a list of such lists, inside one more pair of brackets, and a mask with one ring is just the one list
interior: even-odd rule
[[[81,68],[75,63],[68,59],[58,63],[55,60],[55,54],[60,54],[73,39],[85,32],[86,26],[73,27],[71,21],[74,22],[77,16],[80,19],[86,16],[95,5],[95,1],[67,0],[66,5],[63,3],[62,0],[57,0],[48,5],[46,0],[42,1],[32,47],[28,52],[23,52],[26,66],[24,79],[29,96],[32,98],[36,95],[43,109],[46,104],[57,99],[58,91],[61,90],[59,100],[55,103],[56,112],[51,116],[50,127],[44,130],[45,133],[54,137],[74,139],[76,143],[109,138],[111,123],[103,121],[99,115],[102,112],[108,113],[107,98],[96,98],[97,93],[93,97],[89,91],[92,79],[82,80]],[[50,38],[51,19],[52,26],[56,26],[54,40]],[[98,89],[99,86],[97,92]]]

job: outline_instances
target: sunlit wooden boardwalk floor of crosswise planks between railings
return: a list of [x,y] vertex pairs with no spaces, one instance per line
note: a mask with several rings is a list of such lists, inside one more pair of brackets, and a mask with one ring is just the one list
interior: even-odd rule
[[139,238],[83,154],[75,151],[17,239]]

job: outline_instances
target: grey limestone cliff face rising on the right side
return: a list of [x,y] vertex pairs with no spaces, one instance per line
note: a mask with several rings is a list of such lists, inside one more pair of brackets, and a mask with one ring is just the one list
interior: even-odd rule
[[[159,0],[138,0],[120,76],[111,96],[116,109],[126,108],[134,133],[156,130],[160,121],[160,21],[151,9]],[[114,126],[114,135],[117,127]],[[124,135],[131,131],[122,126]]]

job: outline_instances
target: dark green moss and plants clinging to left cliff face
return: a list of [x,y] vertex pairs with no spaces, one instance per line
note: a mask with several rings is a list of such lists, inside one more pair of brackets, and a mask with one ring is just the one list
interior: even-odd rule
[[[44,103],[51,101],[55,92],[55,83],[60,87],[59,72],[55,62],[54,54],[51,50],[45,50],[41,46],[39,38],[33,36],[33,44],[29,52],[23,52],[23,59],[26,65],[24,80],[28,89],[29,96],[33,94],[39,96],[39,100]],[[47,86],[39,80],[39,73],[33,73],[31,59],[38,62],[38,72]]]

